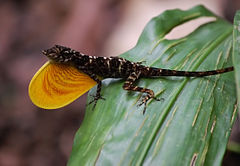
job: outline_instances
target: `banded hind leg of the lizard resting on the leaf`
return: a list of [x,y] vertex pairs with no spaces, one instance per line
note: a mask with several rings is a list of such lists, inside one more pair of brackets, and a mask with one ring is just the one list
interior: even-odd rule
[[154,92],[151,89],[147,89],[147,88],[142,88],[142,87],[138,87],[138,86],[134,86],[133,83],[139,78],[140,76],[140,72],[139,73],[135,73],[133,72],[126,80],[126,82],[123,85],[123,89],[128,90],[128,91],[136,91],[136,92],[141,92],[141,93],[146,93],[146,96],[143,96],[141,99],[141,102],[138,104],[138,106],[141,106],[144,104],[144,109],[143,109],[143,114],[146,112],[146,108],[147,108],[147,102],[150,99],[155,99],[157,101],[160,101],[160,99],[157,99],[154,95]]

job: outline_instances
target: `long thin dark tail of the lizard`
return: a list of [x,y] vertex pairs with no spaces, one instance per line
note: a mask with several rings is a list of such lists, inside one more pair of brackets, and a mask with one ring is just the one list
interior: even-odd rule
[[183,76],[183,77],[204,77],[216,74],[222,74],[233,71],[233,67],[223,68],[219,70],[210,71],[177,71],[160,68],[149,68],[149,75],[151,76]]

